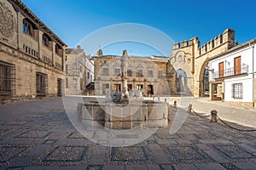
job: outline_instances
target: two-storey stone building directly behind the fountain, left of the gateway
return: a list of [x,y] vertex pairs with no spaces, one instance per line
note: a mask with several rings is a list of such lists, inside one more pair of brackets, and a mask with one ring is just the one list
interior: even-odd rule
[[[129,56],[129,54],[128,54]],[[97,56],[92,57],[95,63],[96,94],[105,94],[106,89],[121,91],[121,56],[103,55],[99,49]],[[127,68],[128,91],[143,90],[145,96],[168,95],[172,91],[170,84],[173,78],[169,58],[161,56],[129,56]]]

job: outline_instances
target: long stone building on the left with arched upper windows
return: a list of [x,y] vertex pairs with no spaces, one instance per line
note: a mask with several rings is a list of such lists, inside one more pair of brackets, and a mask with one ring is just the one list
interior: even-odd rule
[[0,98],[62,94],[67,47],[20,0],[0,0]]

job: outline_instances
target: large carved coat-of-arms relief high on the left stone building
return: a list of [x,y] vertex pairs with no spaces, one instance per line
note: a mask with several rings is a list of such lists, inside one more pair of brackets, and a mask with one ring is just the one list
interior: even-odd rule
[[12,11],[0,2],[0,32],[4,37],[12,37],[15,31],[15,17]]

